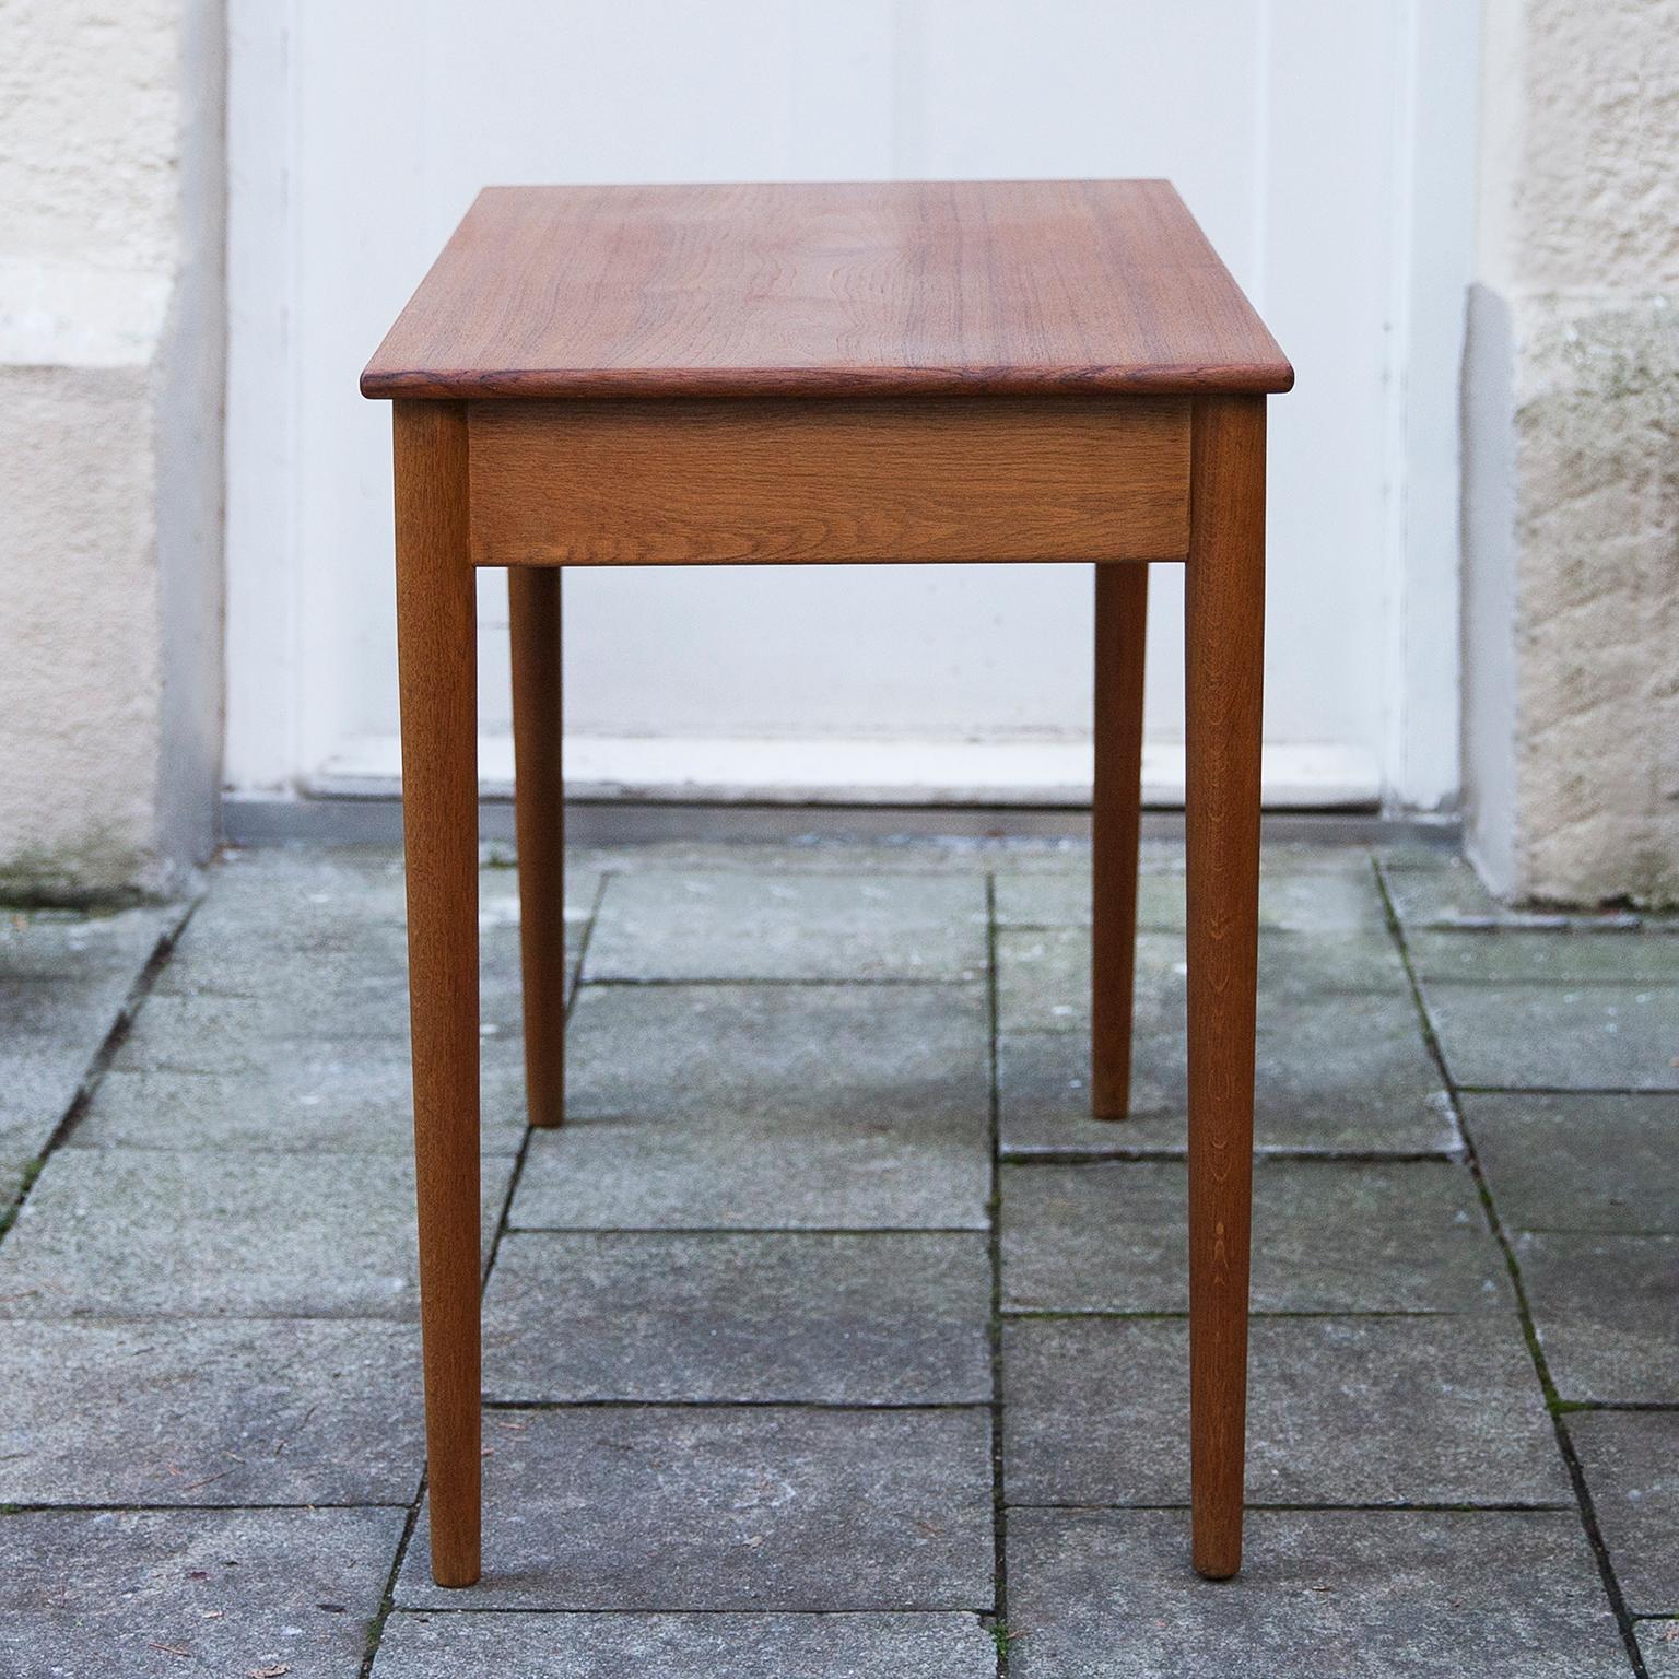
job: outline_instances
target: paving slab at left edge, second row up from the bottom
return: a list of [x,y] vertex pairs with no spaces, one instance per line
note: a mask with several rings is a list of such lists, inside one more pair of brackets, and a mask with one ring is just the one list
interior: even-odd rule
[[3,1336],[0,1504],[405,1504],[420,1331],[269,1318]]

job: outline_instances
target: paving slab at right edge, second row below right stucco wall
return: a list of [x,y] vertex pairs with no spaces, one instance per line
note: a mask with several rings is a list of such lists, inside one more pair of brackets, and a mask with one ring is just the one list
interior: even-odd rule
[[1422,987],[1452,1080],[1491,1090],[1679,1090],[1679,986]]

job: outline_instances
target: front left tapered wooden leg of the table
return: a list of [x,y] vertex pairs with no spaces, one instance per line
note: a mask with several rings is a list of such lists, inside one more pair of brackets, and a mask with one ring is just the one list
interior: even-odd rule
[[398,401],[396,648],[432,1577],[479,1578],[477,588],[460,403]]

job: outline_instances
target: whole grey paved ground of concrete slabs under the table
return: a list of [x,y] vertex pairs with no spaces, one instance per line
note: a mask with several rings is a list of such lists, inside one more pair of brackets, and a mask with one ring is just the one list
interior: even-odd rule
[[[401,863],[0,912],[0,1674],[1679,1674],[1679,930],[1268,848],[1247,1563],[1187,1565],[1182,853],[480,878],[485,1575],[426,1570]],[[549,1023],[554,1029],[556,1023]]]

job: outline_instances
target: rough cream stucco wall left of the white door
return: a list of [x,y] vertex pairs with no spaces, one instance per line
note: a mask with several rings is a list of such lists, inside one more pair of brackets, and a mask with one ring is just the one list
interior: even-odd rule
[[0,892],[176,887],[220,737],[222,8],[0,0]]

